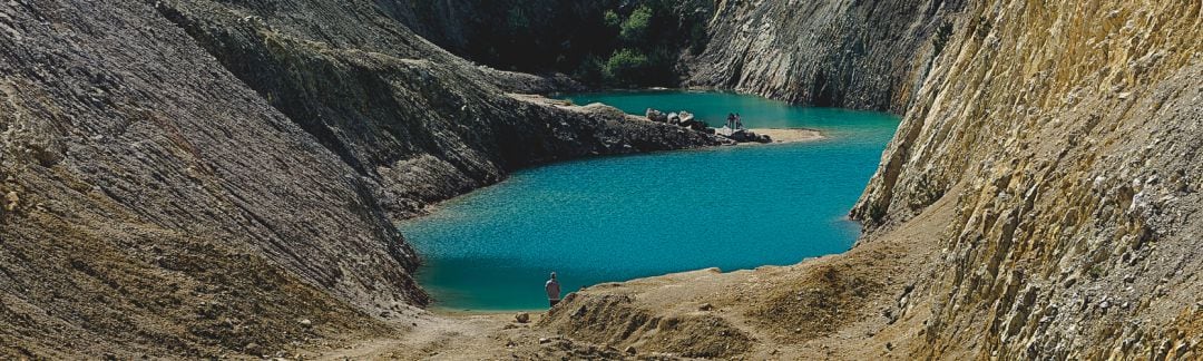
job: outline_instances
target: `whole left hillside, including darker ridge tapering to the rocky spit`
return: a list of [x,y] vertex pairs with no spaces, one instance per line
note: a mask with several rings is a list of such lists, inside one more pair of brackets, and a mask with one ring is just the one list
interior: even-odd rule
[[549,83],[383,13],[0,4],[0,355],[257,356],[396,330],[426,296],[390,218],[544,161],[717,143],[512,96]]

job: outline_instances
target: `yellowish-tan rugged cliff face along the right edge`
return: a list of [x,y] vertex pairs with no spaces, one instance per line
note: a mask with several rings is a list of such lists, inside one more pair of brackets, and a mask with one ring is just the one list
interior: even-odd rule
[[1198,1],[967,8],[853,212],[956,202],[914,355],[1198,356],[1201,25]]

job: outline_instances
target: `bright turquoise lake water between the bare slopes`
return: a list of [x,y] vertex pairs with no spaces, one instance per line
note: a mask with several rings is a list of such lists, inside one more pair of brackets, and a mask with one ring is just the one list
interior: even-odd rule
[[419,282],[451,309],[546,308],[543,283],[583,285],[668,272],[789,265],[852,247],[846,214],[877,167],[897,118],[788,106],[719,93],[567,96],[629,113],[689,110],[711,125],[805,126],[829,140],[562,162],[407,221],[426,258]]

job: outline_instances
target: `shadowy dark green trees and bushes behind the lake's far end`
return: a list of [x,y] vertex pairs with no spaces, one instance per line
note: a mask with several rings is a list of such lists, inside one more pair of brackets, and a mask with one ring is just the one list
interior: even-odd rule
[[[433,11],[435,5],[417,6]],[[677,59],[705,49],[711,6],[666,0],[468,1],[473,16],[461,19],[462,39],[423,35],[497,69],[561,72],[593,87],[675,87],[681,78]]]

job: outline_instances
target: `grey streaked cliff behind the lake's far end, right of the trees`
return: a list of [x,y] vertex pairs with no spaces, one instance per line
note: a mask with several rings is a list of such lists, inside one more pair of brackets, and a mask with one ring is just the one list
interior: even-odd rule
[[943,52],[960,0],[716,1],[685,85],[902,113]]

